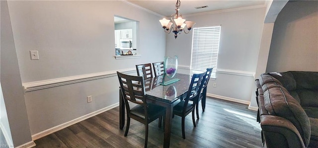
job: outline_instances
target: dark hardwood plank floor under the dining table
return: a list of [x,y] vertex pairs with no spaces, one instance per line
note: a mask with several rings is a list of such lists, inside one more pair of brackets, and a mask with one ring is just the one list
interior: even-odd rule
[[[200,102],[201,103],[201,102]],[[261,129],[256,122],[256,111],[247,105],[207,98],[206,110],[192,124],[186,117],[185,136],[182,139],[181,118],[172,120],[170,148],[261,148]],[[119,129],[119,107],[81,121],[68,128],[35,141],[36,148],[142,148],[145,126],[133,119],[127,137]],[[158,119],[150,124],[148,148],[163,147],[163,126]]]

